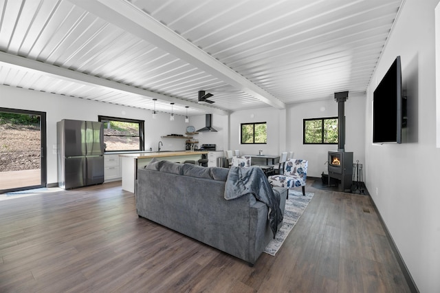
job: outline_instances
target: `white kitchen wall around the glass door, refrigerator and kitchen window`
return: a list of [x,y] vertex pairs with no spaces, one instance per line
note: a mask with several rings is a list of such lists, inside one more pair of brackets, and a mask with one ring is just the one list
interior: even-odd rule
[[[98,121],[98,115],[102,115],[145,120],[146,150],[151,147],[153,151],[156,151],[159,141],[163,142],[162,150],[164,151],[185,149],[184,139],[161,138],[162,135],[171,133],[184,134],[188,126],[184,116],[175,115],[175,120],[170,121],[168,113],[158,113],[157,119],[153,119],[151,111],[147,110],[4,85],[0,85],[0,93],[0,107],[47,113],[47,184],[58,182],[56,154],[52,153],[52,146],[56,144],[56,122],[62,119]],[[191,120],[192,118],[189,124]]]

